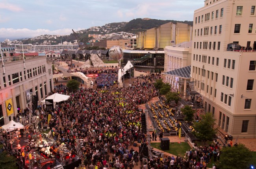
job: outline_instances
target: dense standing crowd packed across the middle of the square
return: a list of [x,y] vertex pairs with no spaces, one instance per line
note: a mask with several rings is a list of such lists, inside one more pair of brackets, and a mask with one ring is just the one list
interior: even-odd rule
[[[115,74],[110,71],[102,75],[99,77]],[[132,168],[139,161],[139,154],[129,150],[129,145],[134,138],[146,141],[138,105],[158,96],[153,82],[150,76],[135,80],[127,88],[80,88],[76,92],[58,85],[49,95],[57,92],[70,98],[57,105],[54,112],[44,112],[42,118],[52,115],[49,126],[54,140],[73,149],[76,141],[80,141],[87,168]]]

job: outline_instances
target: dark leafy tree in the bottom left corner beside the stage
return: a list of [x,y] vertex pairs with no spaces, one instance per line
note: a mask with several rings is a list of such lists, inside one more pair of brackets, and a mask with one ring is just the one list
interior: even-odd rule
[[[3,145],[0,145],[2,149]],[[0,152],[0,168],[1,169],[18,169],[16,166],[16,158],[6,151]]]

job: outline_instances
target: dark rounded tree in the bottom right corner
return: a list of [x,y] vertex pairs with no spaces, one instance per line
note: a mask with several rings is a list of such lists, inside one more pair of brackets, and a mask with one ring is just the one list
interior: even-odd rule
[[252,151],[245,145],[224,147],[221,151],[219,167],[221,169],[247,169],[252,164]]

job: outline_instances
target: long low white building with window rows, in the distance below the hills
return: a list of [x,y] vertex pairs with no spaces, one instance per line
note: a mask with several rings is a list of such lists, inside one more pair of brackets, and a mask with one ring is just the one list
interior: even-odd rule
[[78,44],[58,44],[58,45],[32,45],[32,44],[15,44],[15,49],[21,51],[61,51],[61,50],[76,50]]

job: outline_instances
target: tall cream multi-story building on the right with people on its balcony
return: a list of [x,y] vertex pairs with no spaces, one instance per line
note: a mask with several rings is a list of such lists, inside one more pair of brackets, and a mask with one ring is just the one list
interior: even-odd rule
[[255,0],[205,0],[194,12],[191,81],[206,112],[235,138],[256,138],[255,6]]

